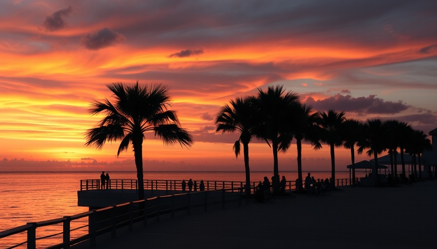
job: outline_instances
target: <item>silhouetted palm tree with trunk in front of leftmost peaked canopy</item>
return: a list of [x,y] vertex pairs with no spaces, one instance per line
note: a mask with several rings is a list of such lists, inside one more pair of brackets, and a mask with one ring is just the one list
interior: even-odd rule
[[364,124],[363,139],[358,142],[358,154],[361,154],[364,149],[369,148],[366,154],[371,157],[374,156],[375,165],[373,165],[372,175],[374,185],[378,184],[378,155],[386,150],[386,129],[382,121],[379,119],[368,120]]

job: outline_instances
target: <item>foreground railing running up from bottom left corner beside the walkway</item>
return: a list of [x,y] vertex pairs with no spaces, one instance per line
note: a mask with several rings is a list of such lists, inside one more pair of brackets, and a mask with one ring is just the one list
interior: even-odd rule
[[[27,232],[27,241],[11,245],[8,248],[16,248],[27,244],[28,249],[41,248],[37,242],[43,239],[50,239],[54,236],[62,235],[62,243],[46,246],[51,249],[69,249],[72,245],[89,240],[90,246],[96,246],[96,237],[111,232],[111,237],[115,238],[117,229],[128,227],[129,231],[133,230],[133,224],[143,222],[147,226],[148,220],[155,218],[159,221],[159,217],[164,214],[169,214],[174,217],[176,212],[186,211],[187,214],[195,208],[201,208],[207,211],[207,208],[212,204],[219,204],[221,208],[225,208],[226,203],[237,202],[241,205],[240,189],[221,189],[217,191],[192,192],[185,194],[176,194],[169,196],[156,196],[146,200],[132,201],[115,206],[110,206],[98,210],[79,213],[72,216],[64,216],[58,219],[52,219],[42,222],[30,222],[26,225],[0,232],[0,242],[2,238],[7,238],[14,234]],[[88,224],[71,229],[72,222],[80,218],[88,217]],[[47,226],[62,226],[62,231],[55,234],[37,237],[37,229]],[[71,238],[72,231],[77,229],[88,228],[85,234]],[[54,229],[55,230],[55,229]],[[2,243],[0,243],[2,244]]]

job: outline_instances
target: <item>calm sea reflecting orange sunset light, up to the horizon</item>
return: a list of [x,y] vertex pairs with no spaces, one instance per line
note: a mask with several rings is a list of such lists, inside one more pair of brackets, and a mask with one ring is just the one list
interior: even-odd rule
[[[78,207],[77,191],[82,179],[99,179],[101,172],[0,172],[0,231],[65,215],[88,211]],[[136,172],[109,172],[111,179],[136,179]],[[251,172],[251,181],[269,179],[272,172]],[[296,180],[297,172],[280,172],[287,180]],[[357,172],[363,177],[365,172]],[[306,172],[304,172],[304,176]],[[330,178],[331,172],[312,172],[317,178]],[[244,172],[144,172],[144,179],[244,181]],[[349,172],[337,172],[336,178],[349,178]],[[87,221],[78,221],[86,223]],[[80,225],[80,224],[78,224]],[[61,228],[60,228],[61,231]],[[40,233],[39,233],[40,232]],[[52,232],[53,233],[53,232]],[[25,234],[24,234],[25,235]],[[37,230],[37,236],[44,231]],[[61,236],[61,235],[60,235]],[[0,248],[8,244],[0,239]]]

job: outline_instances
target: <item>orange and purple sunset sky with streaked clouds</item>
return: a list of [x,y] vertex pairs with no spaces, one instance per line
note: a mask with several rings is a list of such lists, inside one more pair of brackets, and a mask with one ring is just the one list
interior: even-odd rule
[[[106,85],[163,83],[194,137],[187,149],[153,134],[144,170],[244,171],[238,134],[216,134],[219,108],[283,85],[315,110],[437,127],[435,0],[0,1],[0,171],[134,171],[119,143],[84,146]],[[385,155],[385,154],[384,154]],[[251,170],[273,170],[249,144]],[[279,171],[297,170],[296,145]],[[305,145],[302,168],[330,170],[329,146]],[[366,155],[356,161],[368,160]],[[336,149],[338,170],[351,164]]]

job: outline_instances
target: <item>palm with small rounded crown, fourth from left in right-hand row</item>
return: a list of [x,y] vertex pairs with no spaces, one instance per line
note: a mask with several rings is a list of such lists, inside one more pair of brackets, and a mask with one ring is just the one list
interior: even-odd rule
[[342,127],[345,121],[345,113],[337,112],[335,110],[328,110],[328,112],[322,112],[318,121],[318,125],[321,128],[320,140],[326,144],[329,144],[331,149],[331,184],[335,186],[336,180],[336,162],[334,148],[343,144]]

